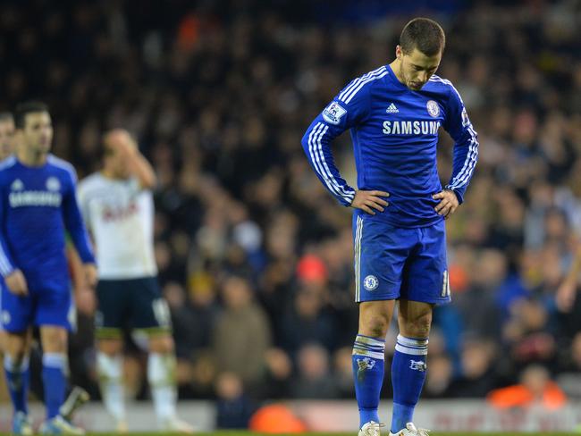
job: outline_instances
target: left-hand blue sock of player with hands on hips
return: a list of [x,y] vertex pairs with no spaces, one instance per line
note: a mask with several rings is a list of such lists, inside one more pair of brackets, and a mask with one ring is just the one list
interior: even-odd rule
[[385,340],[358,334],[353,344],[353,377],[359,407],[359,428],[379,423],[377,407],[383,385]]

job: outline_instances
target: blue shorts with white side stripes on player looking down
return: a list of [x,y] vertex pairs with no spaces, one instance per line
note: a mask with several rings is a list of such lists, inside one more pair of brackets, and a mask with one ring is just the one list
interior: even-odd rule
[[406,229],[353,214],[353,245],[355,301],[450,302],[443,220]]

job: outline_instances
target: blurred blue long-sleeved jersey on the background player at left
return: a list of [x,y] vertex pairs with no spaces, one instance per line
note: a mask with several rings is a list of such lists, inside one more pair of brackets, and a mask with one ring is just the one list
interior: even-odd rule
[[72,165],[54,155],[39,167],[21,164],[15,156],[0,164],[3,277],[19,268],[30,288],[68,289],[65,231],[83,263],[95,262],[77,205],[76,182]]

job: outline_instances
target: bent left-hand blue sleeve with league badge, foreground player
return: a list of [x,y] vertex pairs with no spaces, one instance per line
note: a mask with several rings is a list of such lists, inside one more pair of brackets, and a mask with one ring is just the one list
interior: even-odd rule
[[363,122],[369,113],[369,90],[365,80],[356,79],[341,90],[308,127],[301,140],[308,162],[324,187],[341,205],[349,206],[355,189],[341,177],[334,163],[331,143],[345,130]]

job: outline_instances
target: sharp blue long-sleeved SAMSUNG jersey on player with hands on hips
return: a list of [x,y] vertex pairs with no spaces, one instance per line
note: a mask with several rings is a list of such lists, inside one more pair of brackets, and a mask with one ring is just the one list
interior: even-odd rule
[[436,166],[440,128],[455,142],[453,172],[445,188],[462,203],[478,141],[458,91],[438,76],[419,91],[403,85],[389,65],[352,80],[311,123],[302,146],[326,189],[342,205],[350,205],[355,189],[341,178],[331,153],[333,138],[350,129],[358,189],[390,194],[389,206],[383,213],[376,211],[374,219],[425,227],[443,219],[434,211],[438,200],[432,198],[442,190]]

